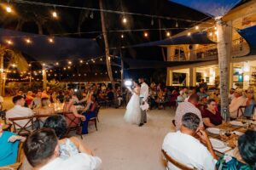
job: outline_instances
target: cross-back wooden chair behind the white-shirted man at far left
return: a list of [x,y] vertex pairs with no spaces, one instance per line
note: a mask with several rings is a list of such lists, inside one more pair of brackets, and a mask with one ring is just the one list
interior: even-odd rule
[[[24,126],[19,124],[19,121],[27,121]],[[28,136],[32,133],[33,130],[33,116],[24,116],[24,117],[13,117],[9,118],[9,121],[14,126],[14,133],[17,133],[20,136]]]

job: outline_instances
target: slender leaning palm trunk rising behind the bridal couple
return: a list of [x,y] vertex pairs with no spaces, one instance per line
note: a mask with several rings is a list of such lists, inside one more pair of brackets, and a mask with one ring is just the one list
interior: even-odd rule
[[[103,9],[103,3],[102,0],[99,0],[99,5],[100,9]],[[108,48],[108,35],[107,35],[107,28],[105,24],[105,17],[103,11],[101,11],[101,20],[102,20],[102,33],[103,33],[103,38],[104,38],[104,43],[105,43],[105,54],[106,54],[106,65],[107,65],[107,70],[108,70],[108,77],[110,79],[110,82],[113,87],[113,94],[114,94],[114,104],[117,104],[117,95],[115,93],[115,87],[114,87],[114,82],[113,82],[113,73],[112,73],[112,68],[111,68],[111,58],[109,54],[109,48]]]

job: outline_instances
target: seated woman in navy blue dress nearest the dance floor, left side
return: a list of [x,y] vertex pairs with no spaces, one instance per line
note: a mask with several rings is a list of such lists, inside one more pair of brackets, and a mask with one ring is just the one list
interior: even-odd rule
[[96,95],[93,94],[90,97],[90,103],[87,102],[86,109],[83,112],[83,115],[85,116],[85,121],[82,122],[82,133],[87,134],[88,133],[88,122],[90,121],[90,118],[96,117],[96,107],[98,106],[98,103],[96,101]]

